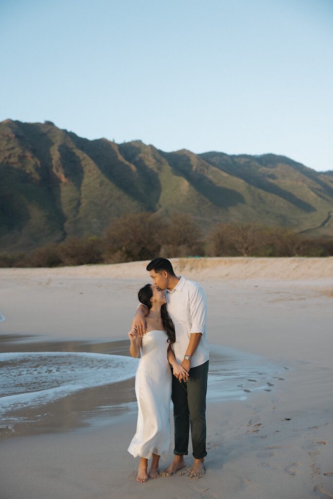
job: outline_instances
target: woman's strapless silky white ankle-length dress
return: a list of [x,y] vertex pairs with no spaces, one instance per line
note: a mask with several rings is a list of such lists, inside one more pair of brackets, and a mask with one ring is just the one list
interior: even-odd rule
[[135,375],[138,401],[136,434],[128,447],[134,457],[161,456],[170,448],[170,398],[172,373],[167,359],[165,331],[154,329],[141,340],[141,358]]

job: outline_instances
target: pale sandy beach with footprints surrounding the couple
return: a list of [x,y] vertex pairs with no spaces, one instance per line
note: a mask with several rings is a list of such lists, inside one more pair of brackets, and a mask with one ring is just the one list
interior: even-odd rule
[[[234,398],[208,398],[205,477],[136,483],[130,378],[70,394],[45,418],[21,410],[31,422],[0,436],[0,499],[333,498],[333,257],[172,262],[206,291],[213,357],[234,366],[235,351],[257,369],[237,375]],[[0,269],[0,351],[126,355],[146,263]]]

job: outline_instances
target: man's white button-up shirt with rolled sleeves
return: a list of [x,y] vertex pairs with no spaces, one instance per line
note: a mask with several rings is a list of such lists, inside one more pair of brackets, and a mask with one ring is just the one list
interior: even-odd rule
[[191,333],[202,333],[200,343],[191,358],[191,367],[209,360],[206,332],[207,299],[201,286],[181,276],[178,284],[165,290],[167,308],[175,325],[176,341],[172,343],[177,362],[181,363],[186,353]]

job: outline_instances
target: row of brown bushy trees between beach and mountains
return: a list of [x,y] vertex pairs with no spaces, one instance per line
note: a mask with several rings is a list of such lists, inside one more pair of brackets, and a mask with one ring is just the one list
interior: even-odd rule
[[0,253],[0,267],[56,267],[149,260],[156,256],[332,256],[333,238],[255,223],[216,224],[209,234],[188,215],[128,214],[101,237],[69,237],[29,253]]

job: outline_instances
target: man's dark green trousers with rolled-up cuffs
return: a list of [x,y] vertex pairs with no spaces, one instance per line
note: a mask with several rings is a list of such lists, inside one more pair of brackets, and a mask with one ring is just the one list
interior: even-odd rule
[[179,456],[188,454],[191,425],[193,457],[202,459],[206,452],[206,393],[209,360],[190,369],[188,381],[172,376],[172,402],[175,422],[175,448]]

